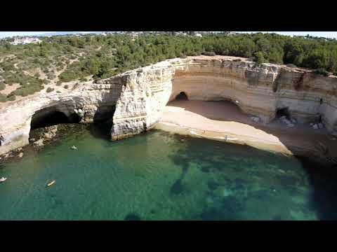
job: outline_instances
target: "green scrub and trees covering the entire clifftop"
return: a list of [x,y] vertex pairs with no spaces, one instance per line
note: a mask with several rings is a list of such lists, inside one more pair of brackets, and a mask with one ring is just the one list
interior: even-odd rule
[[[317,69],[315,73],[324,76],[337,73],[337,41],[333,39],[261,33],[202,37],[188,34],[142,34],[137,38],[127,34],[53,36],[43,38],[40,44],[27,45],[10,45],[3,40],[0,71],[4,83],[0,83],[0,89],[20,83],[13,95],[25,96],[41,90],[58,73],[59,83],[85,82],[88,76],[95,80],[108,78],[164,59],[193,55],[247,57],[256,64],[270,62]],[[37,69],[46,74],[46,80],[40,74],[32,76]]]

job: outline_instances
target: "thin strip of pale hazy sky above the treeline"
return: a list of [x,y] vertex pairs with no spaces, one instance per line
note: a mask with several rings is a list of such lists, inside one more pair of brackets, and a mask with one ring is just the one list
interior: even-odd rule
[[[31,36],[31,35],[39,35],[44,33],[49,33],[51,31],[0,31],[0,38],[4,38],[7,36]],[[84,33],[93,32],[93,31],[81,31]],[[237,32],[275,32],[277,34],[284,35],[307,35],[311,36],[322,36],[326,38],[337,38],[337,31],[237,31]]]

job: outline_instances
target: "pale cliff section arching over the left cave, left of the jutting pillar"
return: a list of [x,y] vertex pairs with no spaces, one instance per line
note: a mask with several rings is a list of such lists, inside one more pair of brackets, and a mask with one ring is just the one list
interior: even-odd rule
[[92,123],[103,106],[114,106],[121,94],[121,84],[81,83],[63,94],[41,93],[37,97],[15,102],[0,111],[0,155],[29,144],[34,114],[59,111],[71,118],[77,114],[81,123]]

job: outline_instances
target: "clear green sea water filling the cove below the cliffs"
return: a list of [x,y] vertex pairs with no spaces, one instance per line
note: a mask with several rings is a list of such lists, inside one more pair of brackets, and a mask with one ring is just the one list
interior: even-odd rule
[[0,165],[0,219],[337,218],[336,176],[296,158],[161,131],[116,142],[96,133],[74,130]]

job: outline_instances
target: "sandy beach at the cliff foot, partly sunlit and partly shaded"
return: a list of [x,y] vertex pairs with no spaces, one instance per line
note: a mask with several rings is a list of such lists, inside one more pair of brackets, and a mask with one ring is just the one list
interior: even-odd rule
[[336,157],[337,140],[326,129],[310,125],[289,128],[274,120],[255,123],[232,102],[173,101],[156,126],[176,134],[204,137],[233,144],[246,144],[285,155]]

